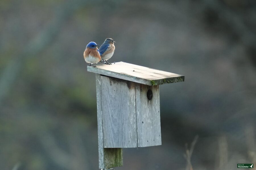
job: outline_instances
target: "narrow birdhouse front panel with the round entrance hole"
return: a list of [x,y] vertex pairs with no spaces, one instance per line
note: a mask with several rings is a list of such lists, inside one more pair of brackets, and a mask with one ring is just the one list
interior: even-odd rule
[[[147,97],[152,90],[151,100]],[[161,145],[159,86],[135,83],[138,147]]]

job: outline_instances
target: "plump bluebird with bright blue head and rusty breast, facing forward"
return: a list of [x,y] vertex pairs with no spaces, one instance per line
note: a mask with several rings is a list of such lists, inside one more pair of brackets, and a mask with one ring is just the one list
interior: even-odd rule
[[96,67],[96,63],[101,60],[98,46],[95,42],[89,42],[84,50],[84,60],[90,65],[95,63],[95,65],[92,65],[93,67]]

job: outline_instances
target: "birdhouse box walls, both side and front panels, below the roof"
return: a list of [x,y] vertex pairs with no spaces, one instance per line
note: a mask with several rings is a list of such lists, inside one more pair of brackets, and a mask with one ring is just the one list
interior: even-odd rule
[[159,86],[100,77],[104,148],[161,145]]

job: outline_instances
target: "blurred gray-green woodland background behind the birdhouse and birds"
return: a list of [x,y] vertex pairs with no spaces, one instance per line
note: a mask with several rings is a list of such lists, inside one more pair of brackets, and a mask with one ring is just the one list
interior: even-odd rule
[[1,0],[1,170],[98,169],[83,52],[106,38],[110,62],[185,75],[160,86],[162,145],[124,149],[116,170],[256,163],[255,0]]

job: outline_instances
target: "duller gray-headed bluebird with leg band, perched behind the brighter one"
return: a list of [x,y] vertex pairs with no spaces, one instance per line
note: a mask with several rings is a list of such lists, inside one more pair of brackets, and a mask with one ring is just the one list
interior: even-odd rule
[[115,41],[112,38],[107,38],[103,44],[100,46],[100,56],[101,59],[104,61],[105,64],[111,64],[108,63],[108,59],[110,59],[115,51]]

